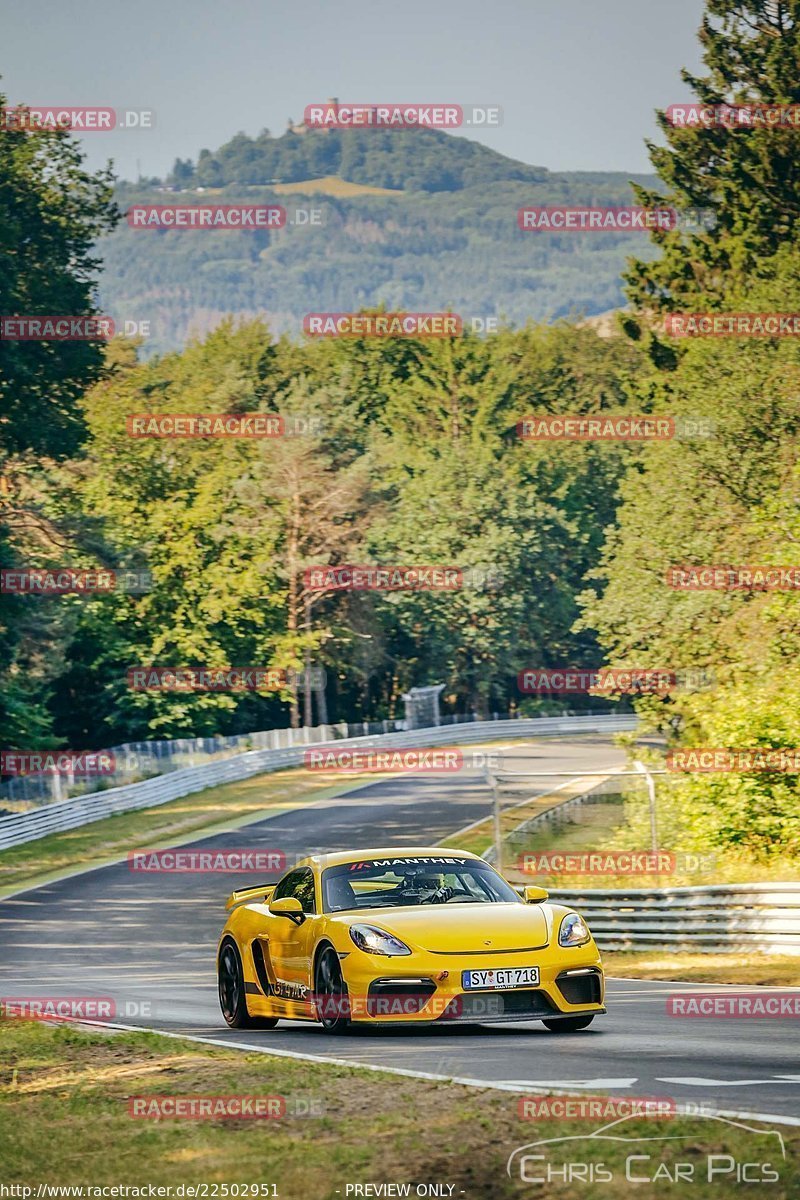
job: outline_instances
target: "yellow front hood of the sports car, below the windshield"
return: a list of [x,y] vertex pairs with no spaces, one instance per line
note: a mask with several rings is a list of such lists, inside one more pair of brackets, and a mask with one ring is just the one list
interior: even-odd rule
[[542,905],[463,904],[362,908],[348,925],[377,925],[431,954],[494,954],[543,949],[549,941]]

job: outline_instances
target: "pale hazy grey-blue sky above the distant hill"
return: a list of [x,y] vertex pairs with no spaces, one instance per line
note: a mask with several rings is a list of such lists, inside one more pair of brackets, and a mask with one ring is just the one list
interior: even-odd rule
[[306,104],[499,104],[470,133],[553,170],[648,170],[654,109],[688,98],[702,0],[0,0],[13,103],[154,109],[151,131],[84,136],[92,167],[163,175]]

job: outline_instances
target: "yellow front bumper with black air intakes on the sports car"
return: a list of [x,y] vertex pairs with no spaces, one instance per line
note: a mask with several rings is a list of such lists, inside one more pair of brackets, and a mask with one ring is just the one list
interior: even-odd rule
[[[416,955],[414,956],[416,958]],[[348,954],[342,962],[348,1015],[371,1024],[541,1021],[604,1013],[604,979],[595,946],[537,955],[443,955],[423,962]],[[366,960],[366,961],[365,961]],[[539,961],[537,961],[539,960]],[[539,967],[536,986],[498,990],[462,988],[462,971]],[[380,970],[383,967],[383,971]],[[380,971],[380,973],[378,973]]]

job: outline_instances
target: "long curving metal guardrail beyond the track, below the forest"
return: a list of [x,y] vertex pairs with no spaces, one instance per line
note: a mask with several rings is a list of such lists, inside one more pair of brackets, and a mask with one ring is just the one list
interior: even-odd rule
[[[315,749],[331,746],[343,750],[385,746],[434,746],[455,745],[468,742],[487,742],[504,738],[558,737],[569,733],[622,733],[636,728],[636,716],[539,716],[510,721],[475,721],[470,725],[434,726],[404,733],[383,733],[366,738],[341,738],[319,742]],[[181,796],[201,792],[206,787],[233,784],[251,775],[260,775],[283,767],[297,767],[303,761],[307,746],[285,750],[251,750],[207,763],[205,767],[188,767],[169,775],[157,775],[140,784],[112,787],[106,792],[92,792],[67,800],[56,800],[30,812],[16,812],[0,817],[0,850],[19,846],[50,833],[76,829],[100,821],[101,817],[136,809],[155,808]]]

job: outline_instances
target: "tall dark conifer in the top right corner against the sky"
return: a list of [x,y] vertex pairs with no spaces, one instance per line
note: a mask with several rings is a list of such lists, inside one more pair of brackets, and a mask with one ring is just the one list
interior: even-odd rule
[[[708,0],[699,30],[708,73],[682,72],[703,106],[800,104],[800,0]],[[675,97],[675,101],[682,97]],[[799,109],[800,113],[800,109]],[[710,229],[654,230],[655,262],[633,260],[627,294],[640,313],[720,308],[800,223],[800,124],[730,127],[678,126],[658,113],[666,145],[649,143],[667,187],[636,187],[646,206],[705,209]],[[628,332],[636,336],[638,322]]]

